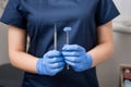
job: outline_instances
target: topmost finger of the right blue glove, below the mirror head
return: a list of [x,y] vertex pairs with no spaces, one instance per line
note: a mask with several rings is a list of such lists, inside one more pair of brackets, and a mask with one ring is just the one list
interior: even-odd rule
[[85,51],[85,49],[79,45],[64,45],[62,50],[64,50],[64,51]]

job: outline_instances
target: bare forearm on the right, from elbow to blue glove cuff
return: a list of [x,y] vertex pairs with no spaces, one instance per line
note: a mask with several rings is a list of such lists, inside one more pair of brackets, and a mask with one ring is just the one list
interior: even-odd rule
[[109,59],[112,52],[114,52],[114,45],[110,42],[104,42],[96,46],[94,49],[88,51],[88,53],[91,53],[91,55],[93,57],[92,66],[96,66],[103,63],[104,61],[106,61],[107,59]]

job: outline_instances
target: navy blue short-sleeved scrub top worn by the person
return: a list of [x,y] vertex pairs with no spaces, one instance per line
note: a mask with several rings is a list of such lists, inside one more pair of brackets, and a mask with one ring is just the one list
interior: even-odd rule
[[[97,26],[119,15],[112,0],[9,0],[1,22],[25,29],[29,36],[28,53],[41,58],[53,49],[57,24],[58,50],[66,44],[63,28],[72,27],[70,44],[86,49],[97,45]],[[63,70],[56,76],[25,73],[22,87],[98,87],[96,69],[76,73]]]

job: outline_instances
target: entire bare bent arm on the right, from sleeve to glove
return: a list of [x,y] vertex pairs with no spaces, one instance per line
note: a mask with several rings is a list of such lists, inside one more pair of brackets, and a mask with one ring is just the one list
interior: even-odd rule
[[105,25],[97,27],[97,46],[88,52],[93,57],[93,65],[96,66],[112,54],[114,52],[114,36],[112,23],[108,22]]

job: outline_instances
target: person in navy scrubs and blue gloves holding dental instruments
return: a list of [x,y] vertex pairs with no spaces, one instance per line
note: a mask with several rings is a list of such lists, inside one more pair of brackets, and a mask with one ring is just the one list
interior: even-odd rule
[[114,52],[118,15],[112,0],[9,0],[0,22],[9,25],[11,64],[25,71],[22,87],[98,87],[96,66]]

